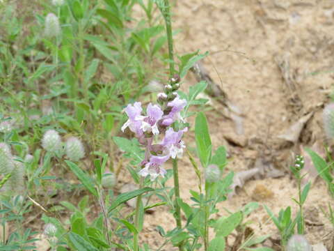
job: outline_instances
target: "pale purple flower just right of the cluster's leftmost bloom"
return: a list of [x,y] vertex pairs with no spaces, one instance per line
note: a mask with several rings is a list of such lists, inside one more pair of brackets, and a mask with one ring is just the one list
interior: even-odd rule
[[141,129],[143,132],[152,132],[154,135],[159,134],[158,121],[164,115],[159,105],[148,104],[148,116],[136,116],[136,120],[141,121]]

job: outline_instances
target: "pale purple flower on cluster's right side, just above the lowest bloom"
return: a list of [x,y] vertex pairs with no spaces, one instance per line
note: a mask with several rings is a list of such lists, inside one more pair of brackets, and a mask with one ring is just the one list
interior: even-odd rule
[[175,132],[173,128],[169,128],[168,130],[166,130],[166,135],[162,140],[161,145],[164,146],[164,152],[170,155],[170,157],[182,157],[183,149],[186,146],[184,146],[184,142],[181,140],[181,138],[183,133],[187,130],[188,128],[184,128],[183,130],[179,130],[178,132]]

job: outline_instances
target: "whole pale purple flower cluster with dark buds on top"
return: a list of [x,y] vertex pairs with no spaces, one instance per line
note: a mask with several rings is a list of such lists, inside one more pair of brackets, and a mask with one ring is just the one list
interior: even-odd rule
[[[184,149],[182,135],[188,129],[175,131],[171,125],[175,121],[182,121],[180,112],[186,106],[186,100],[182,100],[176,93],[180,87],[178,78],[172,78],[171,84],[165,86],[165,92],[157,95],[159,105],[150,103],[143,115],[141,102],[129,104],[125,112],[129,119],[122,126],[122,132],[129,128],[138,142],[145,146],[145,159],[141,162],[143,169],[139,172],[141,176],[150,175],[153,181],[157,176],[164,176],[166,170],[162,167],[169,158],[181,157]],[[154,141],[161,141],[153,144]]]

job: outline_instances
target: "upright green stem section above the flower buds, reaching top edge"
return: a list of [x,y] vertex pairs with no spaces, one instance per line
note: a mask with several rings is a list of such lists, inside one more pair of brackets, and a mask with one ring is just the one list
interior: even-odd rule
[[169,0],[164,0],[163,15],[166,23],[166,33],[168,40],[168,55],[169,55],[169,75],[173,77],[175,72],[174,63],[174,50],[173,50],[173,33],[172,33],[172,22],[170,18],[170,4]]

